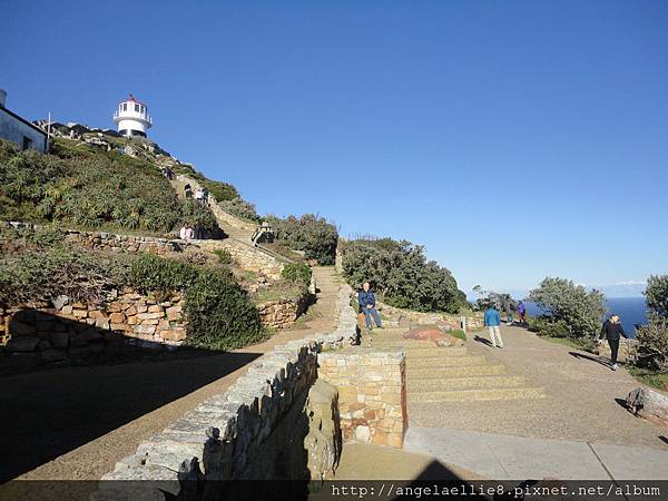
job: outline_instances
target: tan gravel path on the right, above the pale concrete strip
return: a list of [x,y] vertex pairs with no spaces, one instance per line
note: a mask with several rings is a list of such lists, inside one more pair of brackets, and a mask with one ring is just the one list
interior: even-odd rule
[[493,348],[481,334],[470,335],[469,351],[544,387],[544,399],[415,404],[410,419],[422,426],[668,450],[667,429],[635,418],[620,405],[640,385],[628,372],[612,372],[595,355],[520,327],[501,331],[504,350]]

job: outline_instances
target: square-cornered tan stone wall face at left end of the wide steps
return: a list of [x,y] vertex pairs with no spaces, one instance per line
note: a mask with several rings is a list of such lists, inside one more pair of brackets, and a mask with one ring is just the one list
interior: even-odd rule
[[318,377],[338,387],[344,441],[401,448],[409,424],[404,350],[345,348],[321,353],[318,363]]

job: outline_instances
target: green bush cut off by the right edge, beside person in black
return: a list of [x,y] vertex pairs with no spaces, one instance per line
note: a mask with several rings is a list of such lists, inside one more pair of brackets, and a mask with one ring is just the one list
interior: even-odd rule
[[648,324],[636,335],[640,360],[660,372],[668,371],[668,275],[652,275],[645,289]]

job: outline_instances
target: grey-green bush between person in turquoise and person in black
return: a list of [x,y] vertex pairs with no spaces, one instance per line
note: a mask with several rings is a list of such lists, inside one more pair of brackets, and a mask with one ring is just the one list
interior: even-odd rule
[[606,296],[599,291],[587,291],[566,278],[544,278],[529,293],[529,301],[544,312],[539,331],[553,337],[570,337],[593,343],[606,314]]

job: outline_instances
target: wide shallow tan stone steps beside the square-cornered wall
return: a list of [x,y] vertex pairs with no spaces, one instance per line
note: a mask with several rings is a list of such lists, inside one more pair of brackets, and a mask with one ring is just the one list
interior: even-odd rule
[[364,335],[364,346],[406,348],[409,404],[482,402],[544,397],[542,387],[523,376],[508,374],[503,364],[471,355],[465,346],[442,347],[430,341],[404,340],[407,330],[386,328]]

